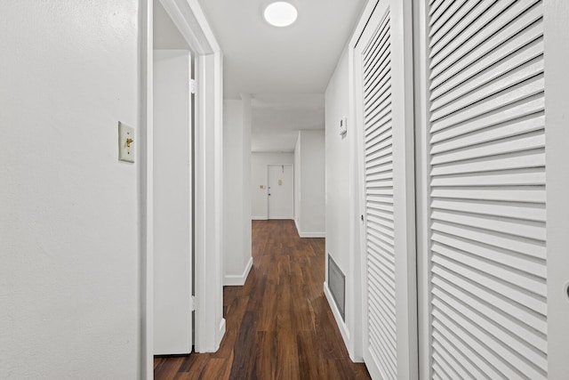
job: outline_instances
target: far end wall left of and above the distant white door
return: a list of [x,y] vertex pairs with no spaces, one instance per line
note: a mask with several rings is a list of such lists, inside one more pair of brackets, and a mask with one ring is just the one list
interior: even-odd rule
[[[251,215],[252,219],[267,219],[267,166],[269,164],[293,164],[293,153],[262,153],[251,154]],[[296,173],[296,168],[294,168]],[[296,174],[295,174],[296,175]],[[264,189],[260,189],[260,185]]]

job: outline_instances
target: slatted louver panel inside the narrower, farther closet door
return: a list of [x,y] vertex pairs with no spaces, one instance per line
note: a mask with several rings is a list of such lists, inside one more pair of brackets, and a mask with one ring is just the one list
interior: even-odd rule
[[391,36],[389,12],[362,54],[369,352],[397,379]]

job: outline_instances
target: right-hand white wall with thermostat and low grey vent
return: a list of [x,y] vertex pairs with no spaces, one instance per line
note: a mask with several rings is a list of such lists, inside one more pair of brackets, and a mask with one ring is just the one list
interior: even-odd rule
[[353,120],[348,119],[346,136],[340,135],[340,120],[349,116],[350,109],[349,68],[348,49],[344,49],[325,93],[326,254],[332,256],[346,276],[345,320],[341,319],[328,292],[327,268],[325,292],[350,358],[362,361],[358,158]]

